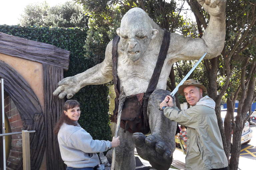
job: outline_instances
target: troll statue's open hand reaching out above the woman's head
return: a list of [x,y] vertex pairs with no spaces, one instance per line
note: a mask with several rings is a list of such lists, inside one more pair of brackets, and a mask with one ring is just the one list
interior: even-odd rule
[[58,83],[58,86],[59,87],[53,92],[53,96],[57,96],[59,94],[60,99],[63,99],[66,95],[67,98],[70,99],[82,88],[75,76],[62,79]]

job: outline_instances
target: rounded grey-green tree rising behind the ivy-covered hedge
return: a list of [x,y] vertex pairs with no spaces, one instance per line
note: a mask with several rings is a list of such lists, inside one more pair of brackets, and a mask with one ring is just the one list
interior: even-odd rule
[[46,2],[29,4],[21,15],[21,26],[83,27],[88,25],[88,17],[83,7],[72,1],[50,7]]

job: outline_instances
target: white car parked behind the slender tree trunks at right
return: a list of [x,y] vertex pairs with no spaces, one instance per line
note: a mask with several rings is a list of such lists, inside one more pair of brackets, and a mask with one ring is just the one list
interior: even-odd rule
[[[221,110],[221,118],[224,126],[224,119],[227,113],[227,109]],[[234,116],[237,115],[237,110],[235,109]],[[250,128],[250,124],[248,121],[246,121],[245,126],[243,128],[242,136],[241,136],[241,144],[248,144],[251,141],[252,138],[252,129]],[[233,133],[231,137],[231,144],[233,143]]]

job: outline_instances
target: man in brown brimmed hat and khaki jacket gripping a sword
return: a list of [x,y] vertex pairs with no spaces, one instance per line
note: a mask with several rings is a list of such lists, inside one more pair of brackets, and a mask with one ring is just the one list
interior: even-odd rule
[[227,170],[228,160],[218,128],[215,102],[208,96],[203,97],[205,92],[206,88],[199,81],[186,80],[178,93],[185,96],[191,107],[179,110],[167,95],[160,108],[171,121],[187,127],[187,170]]

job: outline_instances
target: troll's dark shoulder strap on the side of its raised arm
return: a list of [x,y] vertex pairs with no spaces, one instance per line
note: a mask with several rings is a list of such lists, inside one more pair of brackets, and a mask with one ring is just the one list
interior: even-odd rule
[[171,34],[168,30],[166,30],[166,29],[163,29],[163,30],[164,30],[164,36],[163,36],[162,45],[161,45],[161,48],[160,48],[160,51],[159,51],[159,54],[158,54],[156,67],[154,69],[153,75],[152,75],[151,80],[149,82],[146,94],[148,94],[148,93],[151,94],[156,89],[156,86],[157,86],[157,83],[158,83],[158,80],[159,80],[159,76],[160,76],[161,70],[163,68],[164,60],[167,56],[167,52],[168,52],[168,49],[169,49],[170,35]]

